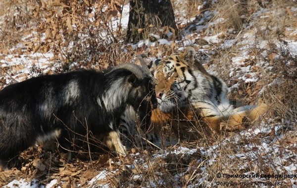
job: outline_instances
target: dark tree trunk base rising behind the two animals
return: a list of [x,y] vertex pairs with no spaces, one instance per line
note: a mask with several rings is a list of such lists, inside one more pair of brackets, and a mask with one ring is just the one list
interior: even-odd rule
[[127,42],[148,39],[150,33],[179,36],[170,0],[130,0]]

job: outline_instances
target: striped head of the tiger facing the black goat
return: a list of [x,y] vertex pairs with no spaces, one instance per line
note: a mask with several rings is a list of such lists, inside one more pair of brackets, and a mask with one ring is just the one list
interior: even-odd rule
[[[195,60],[196,51],[187,47],[178,55],[155,61],[156,97],[162,112],[189,105],[191,91],[197,87],[194,69],[202,65]],[[197,63],[200,64],[197,66]],[[204,71],[205,69],[202,68]],[[205,71],[206,72],[206,71]]]

